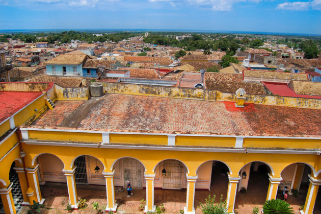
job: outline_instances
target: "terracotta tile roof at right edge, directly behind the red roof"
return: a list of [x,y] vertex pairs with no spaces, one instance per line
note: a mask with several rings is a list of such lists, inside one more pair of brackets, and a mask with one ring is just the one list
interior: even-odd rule
[[289,85],[291,85],[291,88],[298,94],[321,96],[320,82],[291,81]]

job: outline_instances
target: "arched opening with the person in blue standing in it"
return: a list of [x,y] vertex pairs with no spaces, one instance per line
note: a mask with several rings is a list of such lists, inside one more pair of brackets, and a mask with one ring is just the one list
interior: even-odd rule
[[[114,187],[118,209],[125,210],[128,206],[132,206],[137,210],[137,207],[141,204],[140,200],[146,200],[144,165],[136,158],[122,157],[114,162],[112,169],[115,170]],[[133,195],[128,196],[126,181],[130,181]]]

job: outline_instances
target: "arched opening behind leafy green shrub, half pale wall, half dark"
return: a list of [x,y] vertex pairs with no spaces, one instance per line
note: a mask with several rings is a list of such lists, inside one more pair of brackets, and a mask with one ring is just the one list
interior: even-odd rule
[[[219,202],[221,195],[223,195],[223,201],[226,199],[229,171],[228,166],[221,161],[207,161],[200,165],[196,172],[198,178],[195,189],[195,209],[199,203],[205,203],[208,195],[215,195],[216,202]],[[197,208],[196,211],[200,209]]]

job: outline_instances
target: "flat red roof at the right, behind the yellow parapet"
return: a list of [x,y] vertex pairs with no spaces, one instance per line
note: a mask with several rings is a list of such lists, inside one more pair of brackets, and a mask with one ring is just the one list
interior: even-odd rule
[[279,96],[282,96],[282,97],[321,99],[321,96],[297,94],[287,85],[287,83],[275,83],[275,82],[262,82],[262,83],[273,94],[278,94]]

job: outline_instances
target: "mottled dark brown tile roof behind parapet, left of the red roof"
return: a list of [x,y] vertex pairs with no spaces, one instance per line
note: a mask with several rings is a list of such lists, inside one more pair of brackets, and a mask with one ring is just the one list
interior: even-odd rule
[[244,88],[247,94],[265,95],[264,86],[261,83],[223,82],[206,80],[206,88],[221,92],[235,93],[238,88]]

